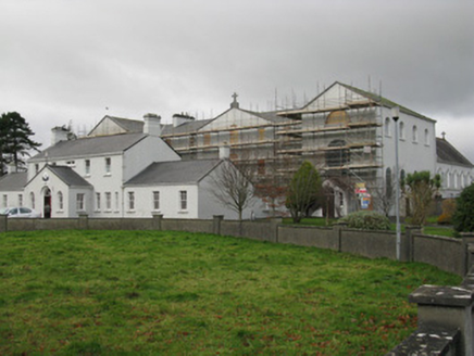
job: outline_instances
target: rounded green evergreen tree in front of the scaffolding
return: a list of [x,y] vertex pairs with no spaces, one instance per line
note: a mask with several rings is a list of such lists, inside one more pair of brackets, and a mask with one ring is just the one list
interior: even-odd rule
[[317,204],[321,188],[320,174],[310,162],[304,161],[291,179],[286,199],[294,223],[300,223],[309,208]]

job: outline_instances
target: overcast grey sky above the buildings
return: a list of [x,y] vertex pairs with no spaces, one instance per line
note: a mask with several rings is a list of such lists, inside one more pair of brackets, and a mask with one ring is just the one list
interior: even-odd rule
[[[438,122],[474,162],[472,0],[0,0],[0,113],[50,128],[302,104],[339,80]],[[109,107],[109,110],[105,110]]]

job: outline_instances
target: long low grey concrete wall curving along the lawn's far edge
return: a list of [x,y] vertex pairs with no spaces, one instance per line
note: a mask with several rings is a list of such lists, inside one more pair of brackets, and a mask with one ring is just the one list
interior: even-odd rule
[[[7,216],[0,216],[0,232],[59,229],[175,230],[328,249],[367,258],[396,259],[396,233],[391,231],[361,231],[345,226],[290,226],[280,223],[280,219],[224,220],[222,216],[214,216],[213,219],[163,218],[162,215],[152,218],[88,218],[83,215],[64,219],[8,219]],[[401,236],[401,260],[426,263],[460,276],[464,276],[469,265],[474,263],[474,257],[470,258],[469,255],[469,245],[474,243],[474,238],[471,241],[467,238],[450,239],[416,232],[419,230],[408,228],[407,233]],[[474,253],[471,254],[474,256]]]

